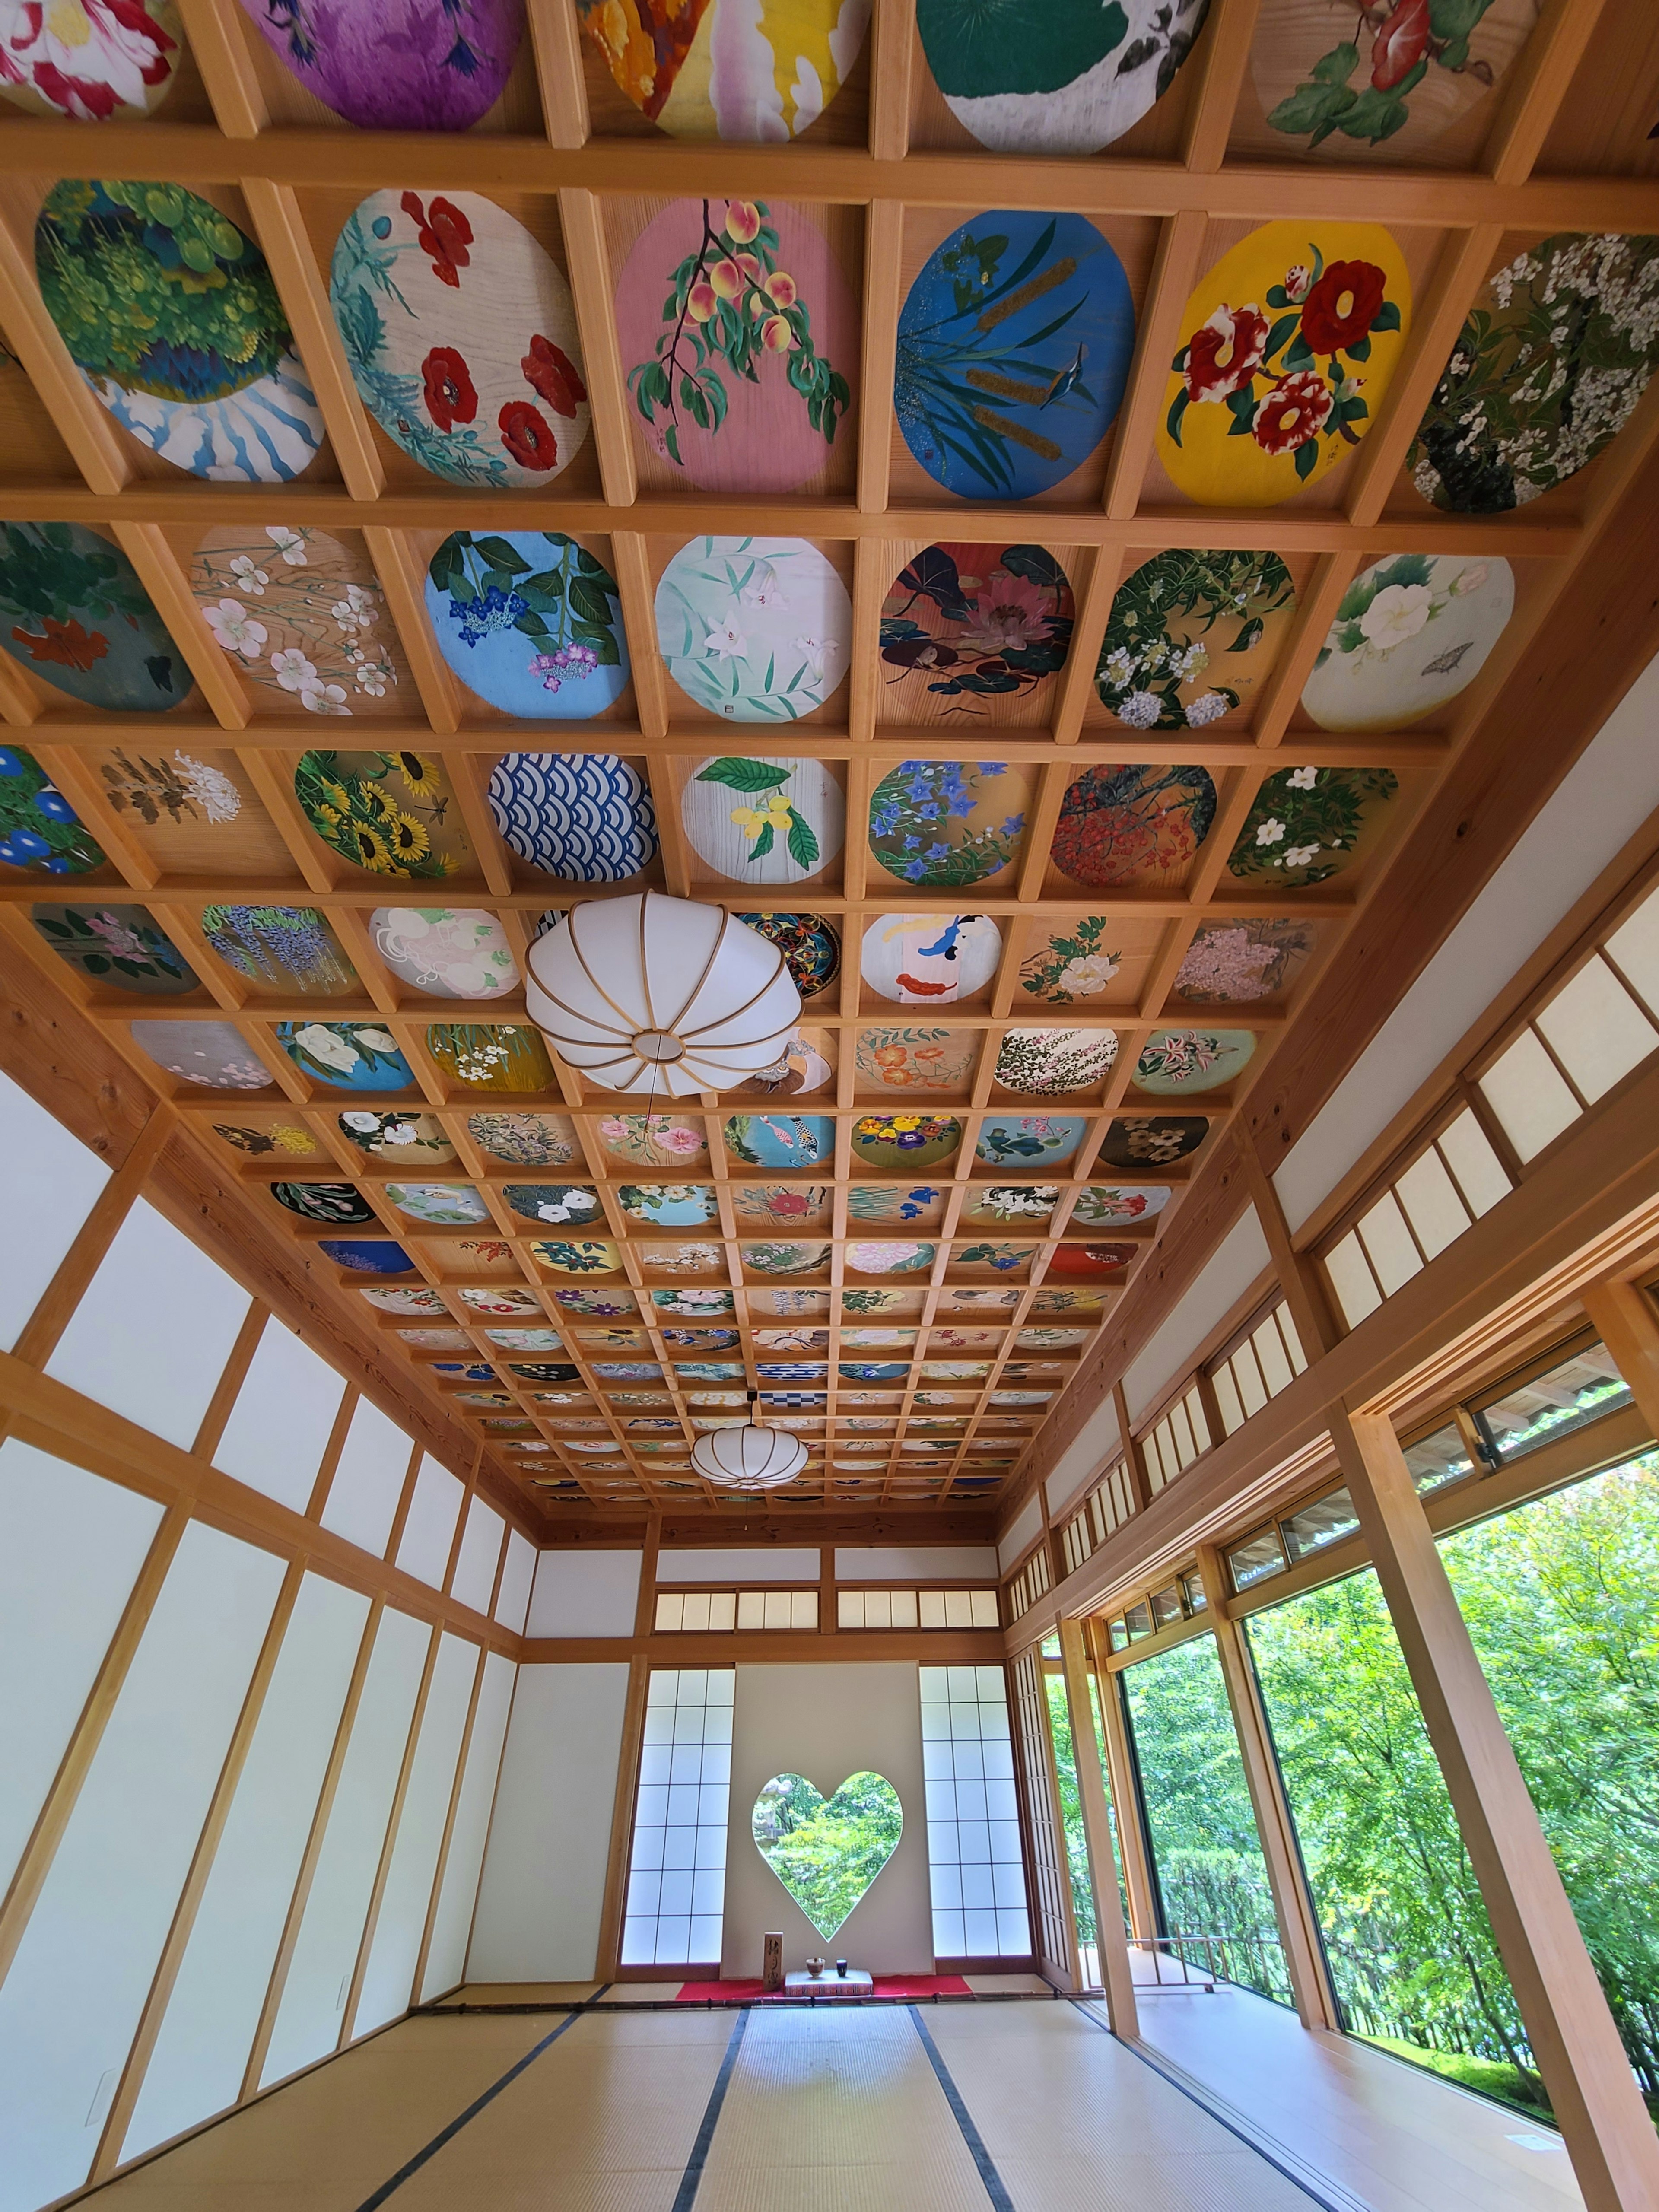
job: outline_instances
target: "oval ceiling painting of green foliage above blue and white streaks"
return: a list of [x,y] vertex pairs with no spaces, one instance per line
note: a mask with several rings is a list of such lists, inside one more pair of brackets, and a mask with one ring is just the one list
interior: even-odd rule
[[62,179],[35,223],[35,276],[75,367],[164,460],[285,484],[316,458],[323,416],[265,257],[210,201]]

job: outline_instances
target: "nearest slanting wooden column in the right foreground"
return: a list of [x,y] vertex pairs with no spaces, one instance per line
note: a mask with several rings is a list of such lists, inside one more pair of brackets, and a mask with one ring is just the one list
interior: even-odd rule
[[1400,1440],[1332,1409],[1354,1511],[1491,1913],[1526,2039],[1590,2212],[1659,2205],[1659,2135],[1515,1765]]

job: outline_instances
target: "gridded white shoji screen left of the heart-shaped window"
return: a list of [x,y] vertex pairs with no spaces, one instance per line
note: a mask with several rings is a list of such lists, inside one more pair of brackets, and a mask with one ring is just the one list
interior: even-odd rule
[[624,1966],[717,1964],[726,1918],[732,1668],[653,1668],[633,1812]]

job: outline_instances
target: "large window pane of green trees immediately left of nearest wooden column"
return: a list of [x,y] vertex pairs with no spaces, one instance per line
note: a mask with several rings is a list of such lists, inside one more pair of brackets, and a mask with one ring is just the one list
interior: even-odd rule
[[1252,1613],[1245,1637],[1345,2026],[1537,2112],[1520,2011],[1376,1573]]

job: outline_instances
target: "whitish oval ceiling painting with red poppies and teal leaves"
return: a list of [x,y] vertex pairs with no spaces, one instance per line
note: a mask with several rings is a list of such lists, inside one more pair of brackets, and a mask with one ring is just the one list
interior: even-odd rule
[[334,241],[330,305],[363,405],[431,476],[526,491],[582,451],[571,288],[493,199],[369,192]]

